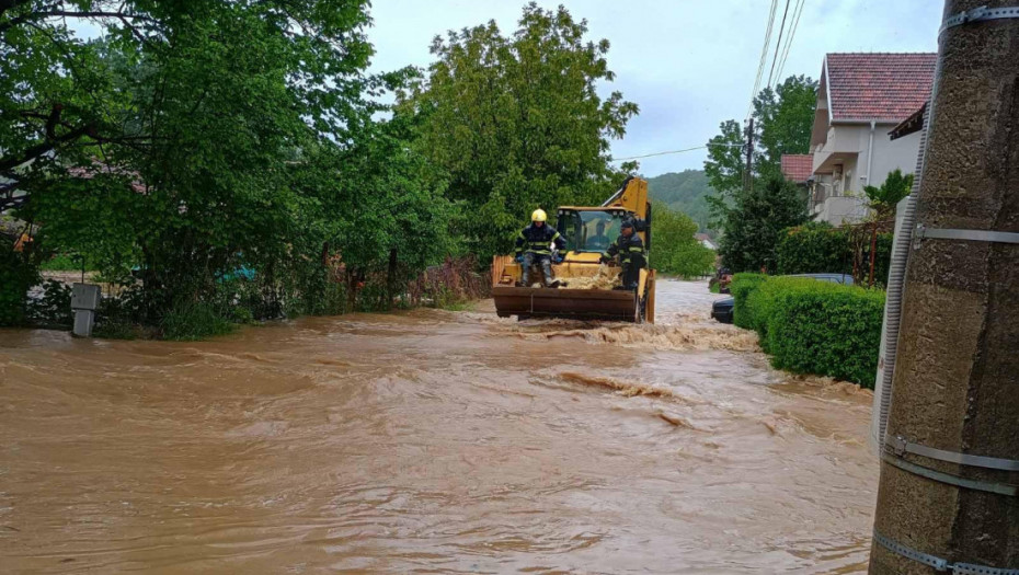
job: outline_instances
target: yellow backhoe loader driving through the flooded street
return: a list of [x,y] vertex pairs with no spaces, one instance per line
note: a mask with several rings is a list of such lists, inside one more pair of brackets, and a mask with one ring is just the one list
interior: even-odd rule
[[[637,290],[576,289],[572,279],[594,278],[604,272],[598,258],[619,235],[623,220],[638,222],[637,233],[644,242],[650,261],[651,203],[648,182],[628,177],[618,192],[596,207],[563,206],[556,228],[566,242],[562,263],[552,265],[556,279],[565,287],[516,287],[520,264],[513,256],[496,255],[492,261],[492,297],[501,318],[517,315],[654,323],[654,269],[640,271]],[[615,276],[619,267],[611,267]],[[537,271],[536,271],[537,272]],[[540,273],[533,277],[541,277]],[[582,281],[574,281],[580,284]]]

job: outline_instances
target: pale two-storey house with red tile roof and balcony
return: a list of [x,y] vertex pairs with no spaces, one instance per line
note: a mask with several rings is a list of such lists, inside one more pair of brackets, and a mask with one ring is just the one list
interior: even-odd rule
[[889,134],[930,97],[937,54],[828,54],[811,131],[810,211],[833,225],[866,217],[863,186],[912,172],[919,133]]

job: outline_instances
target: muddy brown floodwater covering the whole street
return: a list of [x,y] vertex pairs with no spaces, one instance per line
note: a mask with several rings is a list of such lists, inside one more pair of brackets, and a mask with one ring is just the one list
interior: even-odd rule
[[0,572],[863,571],[869,392],[771,370],[714,298],[0,331]]

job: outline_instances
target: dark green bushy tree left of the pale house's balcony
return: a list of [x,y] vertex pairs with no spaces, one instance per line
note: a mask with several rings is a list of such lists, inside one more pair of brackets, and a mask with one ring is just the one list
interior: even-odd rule
[[775,269],[781,231],[804,221],[806,202],[800,189],[781,176],[768,177],[726,209],[719,241],[723,264],[734,272]]

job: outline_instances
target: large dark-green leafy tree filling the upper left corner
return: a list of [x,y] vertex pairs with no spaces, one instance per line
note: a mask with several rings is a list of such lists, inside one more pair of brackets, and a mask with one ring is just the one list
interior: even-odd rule
[[[0,4],[0,208],[201,296],[301,254],[306,156],[370,124],[365,0]],[[77,23],[100,30],[75,34]],[[302,168],[305,166],[305,168]],[[324,180],[323,179],[320,179]],[[14,195],[10,191],[16,189]]]

